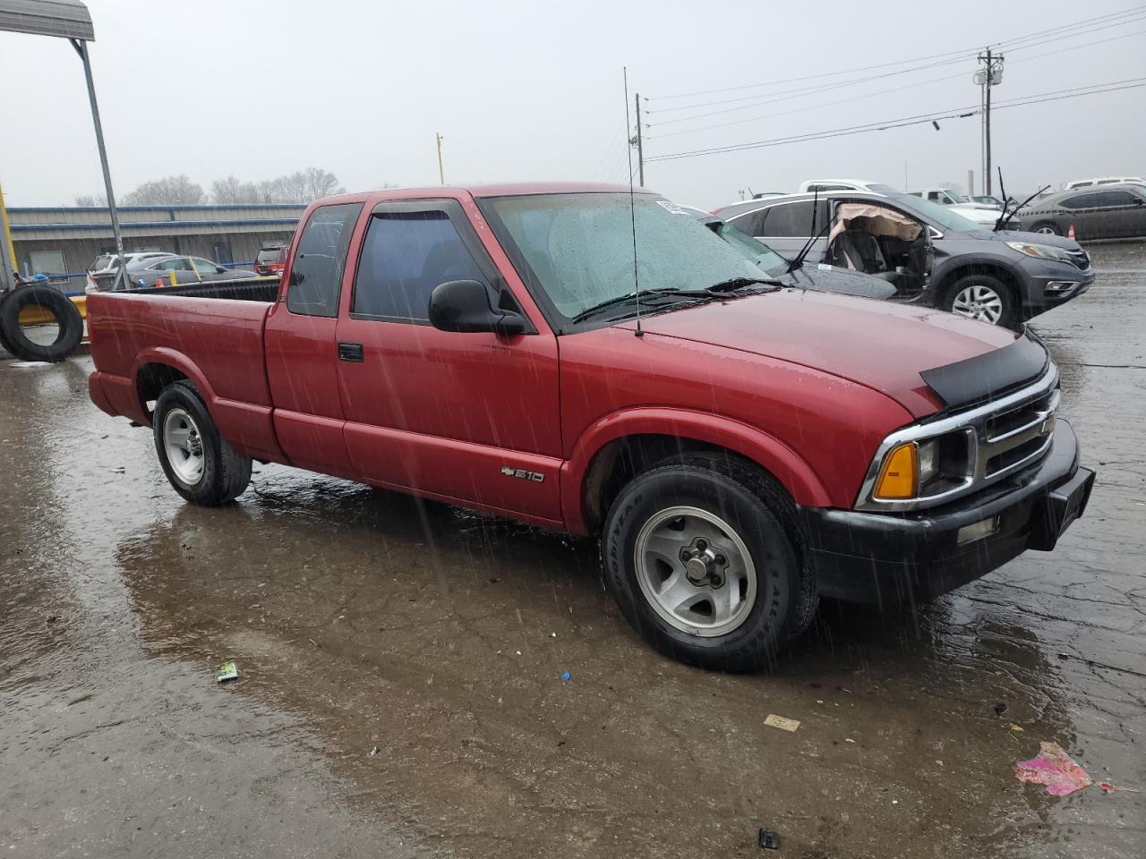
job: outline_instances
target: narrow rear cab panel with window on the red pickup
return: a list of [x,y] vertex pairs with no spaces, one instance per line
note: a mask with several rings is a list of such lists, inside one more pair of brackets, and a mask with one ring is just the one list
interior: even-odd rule
[[361,203],[344,203],[311,213],[266,325],[280,446],[292,465],[345,478],[356,474],[343,439],[336,337],[347,249],[361,212]]

